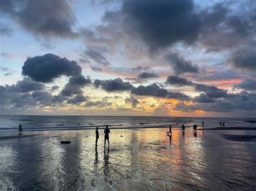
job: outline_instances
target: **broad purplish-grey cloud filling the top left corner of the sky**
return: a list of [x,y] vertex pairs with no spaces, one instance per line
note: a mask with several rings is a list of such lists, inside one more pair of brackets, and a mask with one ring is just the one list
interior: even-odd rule
[[73,37],[72,27],[76,23],[75,14],[65,0],[1,1],[0,7],[33,34],[49,37]]

